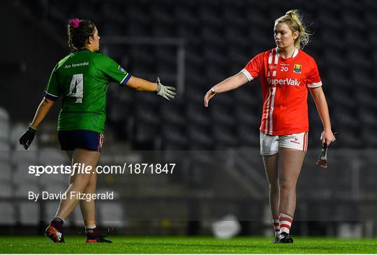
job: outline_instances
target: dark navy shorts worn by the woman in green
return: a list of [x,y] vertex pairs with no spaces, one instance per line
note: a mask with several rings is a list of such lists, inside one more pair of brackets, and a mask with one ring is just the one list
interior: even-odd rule
[[83,148],[101,151],[103,144],[103,134],[90,130],[60,130],[58,131],[58,138],[61,150]]

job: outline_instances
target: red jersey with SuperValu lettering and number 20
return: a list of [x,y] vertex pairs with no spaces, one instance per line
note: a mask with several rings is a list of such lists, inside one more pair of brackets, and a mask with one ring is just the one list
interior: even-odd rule
[[283,59],[276,49],[258,54],[241,71],[249,81],[260,75],[260,131],[273,135],[308,132],[307,88],[322,86],[316,61],[300,49],[295,49],[291,58]]

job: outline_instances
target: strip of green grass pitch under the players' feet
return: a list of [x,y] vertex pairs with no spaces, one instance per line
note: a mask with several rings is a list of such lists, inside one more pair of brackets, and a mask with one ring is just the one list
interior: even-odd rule
[[293,245],[273,245],[271,238],[242,237],[219,240],[209,237],[112,236],[112,244],[87,244],[84,236],[66,236],[55,244],[43,236],[0,236],[0,253],[101,253],[101,254],[242,254],[242,253],[377,253],[377,239],[295,238]]

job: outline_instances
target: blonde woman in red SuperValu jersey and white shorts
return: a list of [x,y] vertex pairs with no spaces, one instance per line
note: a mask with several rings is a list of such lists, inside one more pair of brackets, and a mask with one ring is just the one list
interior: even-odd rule
[[216,93],[231,91],[260,76],[260,154],[269,182],[269,206],[276,233],[273,242],[293,243],[289,231],[308,141],[308,88],[323,122],[322,143],[329,145],[335,138],[316,61],[301,49],[309,42],[309,33],[297,10],[289,10],[275,21],[274,38],[276,48],[258,54],[237,75],[213,86],[204,100],[208,107]]

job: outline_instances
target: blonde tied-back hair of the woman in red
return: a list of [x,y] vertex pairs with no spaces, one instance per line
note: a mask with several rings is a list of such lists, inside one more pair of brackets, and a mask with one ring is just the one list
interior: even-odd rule
[[298,10],[288,10],[286,15],[283,15],[275,20],[275,24],[282,22],[286,22],[293,33],[299,32],[299,36],[295,39],[295,47],[304,49],[305,45],[309,43],[309,36],[311,36],[311,33],[307,31],[306,27],[304,26],[302,17]]

